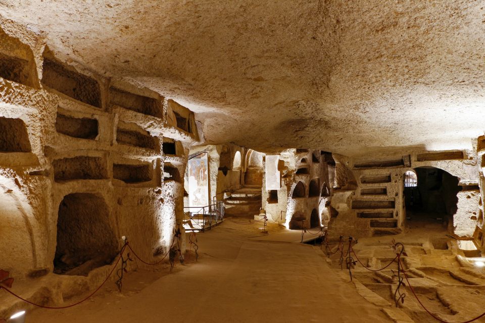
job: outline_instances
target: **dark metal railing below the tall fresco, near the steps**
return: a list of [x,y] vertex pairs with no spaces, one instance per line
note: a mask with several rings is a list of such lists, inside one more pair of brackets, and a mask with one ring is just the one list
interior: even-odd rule
[[186,206],[183,208],[185,231],[212,229],[224,220],[225,205],[219,201],[207,206]]

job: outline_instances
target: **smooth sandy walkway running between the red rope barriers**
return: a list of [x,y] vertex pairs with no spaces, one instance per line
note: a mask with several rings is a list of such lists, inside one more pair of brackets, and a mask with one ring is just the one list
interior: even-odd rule
[[177,263],[169,275],[166,265],[129,273],[122,294],[108,284],[79,306],[34,310],[26,322],[391,321],[318,248],[254,239],[260,235],[258,225],[226,221],[198,235],[199,262]]

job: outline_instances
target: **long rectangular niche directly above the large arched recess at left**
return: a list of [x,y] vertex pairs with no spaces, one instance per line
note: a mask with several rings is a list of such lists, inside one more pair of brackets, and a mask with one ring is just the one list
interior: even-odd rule
[[108,178],[108,169],[102,157],[77,156],[52,162],[54,180],[100,180]]

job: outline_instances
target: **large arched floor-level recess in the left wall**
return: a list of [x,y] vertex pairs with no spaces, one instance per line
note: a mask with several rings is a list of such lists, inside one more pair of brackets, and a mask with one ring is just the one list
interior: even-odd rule
[[110,225],[110,209],[103,197],[72,193],[59,205],[54,273],[86,276],[110,264],[118,253]]

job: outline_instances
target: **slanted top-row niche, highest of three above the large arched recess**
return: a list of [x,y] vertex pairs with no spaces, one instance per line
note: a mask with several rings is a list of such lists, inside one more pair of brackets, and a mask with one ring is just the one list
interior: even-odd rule
[[46,58],[42,68],[43,85],[81,102],[101,107],[101,90],[96,80]]

